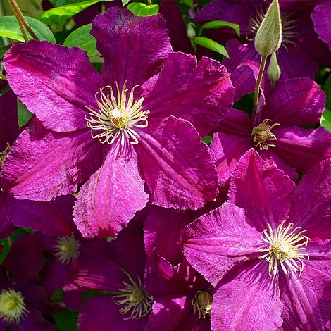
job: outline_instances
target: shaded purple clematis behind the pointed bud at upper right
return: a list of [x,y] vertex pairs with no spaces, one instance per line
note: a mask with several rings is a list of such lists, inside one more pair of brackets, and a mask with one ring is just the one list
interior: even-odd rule
[[[280,77],[282,80],[295,77],[313,79],[318,64],[331,64],[331,52],[318,38],[311,21],[311,12],[316,4],[318,1],[280,0],[283,32],[282,46],[277,51],[277,60],[282,71]],[[254,77],[249,68],[241,64],[246,61],[260,61],[261,56],[255,50],[253,39],[266,13],[266,7],[266,1],[263,0],[214,0],[204,6],[194,18],[201,24],[210,20],[237,23],[242,37],[249,39],[246,44],[241,44],[237,39],[233,39],[236,38],[233,30],[230,34],[225,31],[224,35],[222,30],[212,36],[214,39],[221,37],[221,42],[232,38],[226,45],[230,58],[224,58],[223,65],[232,73],[231,80],[235,86],[236,99],[254,91]]]

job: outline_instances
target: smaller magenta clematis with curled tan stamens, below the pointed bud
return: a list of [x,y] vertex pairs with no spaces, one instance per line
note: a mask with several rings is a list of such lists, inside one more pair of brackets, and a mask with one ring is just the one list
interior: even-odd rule
[[[331,157],[331,134],[323,127],[302,128],[319,123],[325,94],[308,78],[277,81],[270,91],[265,80],[263,97],[253,120],[244,111],[232,109],[221,120],[211,142],[220,183],[224,184],[239,158],[251,148],[269,164],[285,171],[292,180],[297,173]],[[264,101],[264,102],[263,102]],[[264,105],[263,105],[264,104]]]

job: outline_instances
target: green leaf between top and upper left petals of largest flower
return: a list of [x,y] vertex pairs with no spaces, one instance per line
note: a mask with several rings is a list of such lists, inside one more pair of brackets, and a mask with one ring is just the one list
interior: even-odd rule
[[68,47],[79,47],[87,51],[88,56],[99,55],[99,51],[95,49],[96,39],[90,35],[89,30],[91,30],[92,24],[83,25],[78,27],[75,31],[68,35],[67,39],[63,42],[64,46]]

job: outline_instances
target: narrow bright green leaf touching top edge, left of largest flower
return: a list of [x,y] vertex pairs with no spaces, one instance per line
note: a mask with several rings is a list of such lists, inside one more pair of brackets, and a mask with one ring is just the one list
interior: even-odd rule
[[89,0],[82,1],[77,4],[68,4],[66,6],[51,8],[48,11],[44,11],[44,13],[37,15],[37,19],[47,25],[53,24],[57,27],[63,27],[65,22],[69,18],[72,18],[73,15],[80,13],[85,8],[92,6],[93,4],[97,4],[100,1],[102,0]]

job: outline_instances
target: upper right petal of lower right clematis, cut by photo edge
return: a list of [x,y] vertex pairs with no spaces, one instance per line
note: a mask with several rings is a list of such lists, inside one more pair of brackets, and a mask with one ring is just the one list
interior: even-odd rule
[[[289,220],[307,230],[310,239],[331,237],[331,161],[326,160],[308,171],[300,180]],[[304,208],[303,208],[304,206]]]

